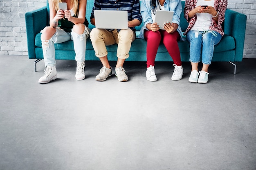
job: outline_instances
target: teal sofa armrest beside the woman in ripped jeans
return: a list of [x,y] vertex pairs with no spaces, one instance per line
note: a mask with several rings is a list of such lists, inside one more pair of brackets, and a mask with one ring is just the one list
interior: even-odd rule
[[47,26],[47,7],[43,7],[25,14],[27,29],[27,50],[29,59],[36,59],[35,37],[36,34]]

